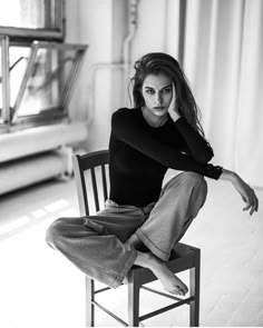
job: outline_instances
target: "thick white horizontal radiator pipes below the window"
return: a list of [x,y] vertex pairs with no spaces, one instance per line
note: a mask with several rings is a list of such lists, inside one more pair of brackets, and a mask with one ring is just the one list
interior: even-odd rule
[[72,175],[72,147],[87,139],[81,122],[37,127],[0,136],[0,195]]

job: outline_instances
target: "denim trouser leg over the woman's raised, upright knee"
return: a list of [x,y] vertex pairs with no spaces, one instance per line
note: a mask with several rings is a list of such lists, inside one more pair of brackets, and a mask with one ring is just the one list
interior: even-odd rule
[[206,195],[203,176],[195,172],[176,176],[164,186],[149,218],[137,229],[137,237],[155,256],[167,261],[174,245],[203,207]]

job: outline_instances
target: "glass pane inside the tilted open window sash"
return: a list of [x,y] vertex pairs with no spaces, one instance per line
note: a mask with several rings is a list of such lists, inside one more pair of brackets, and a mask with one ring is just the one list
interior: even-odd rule
[[[50,110],[59,111],[62,115],[64,100],[70,90],[71,79],[80,60],[79,49],[67,48],[66,44],[56,47],[47,43],[33,49],[22,88],[17,89],[14,74],[11,80],[11,89],[13,90],[11,98],[13,101],[16,99],[14,119],[47,113]],[[13,48],[14,50],[17,49]],[[19,56],[21,52],[17,54],[17,58]]]

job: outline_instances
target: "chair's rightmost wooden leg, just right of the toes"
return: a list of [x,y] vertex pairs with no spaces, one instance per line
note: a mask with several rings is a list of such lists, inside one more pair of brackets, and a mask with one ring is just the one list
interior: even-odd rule
[[199,250],[196,250],[195,267],[189,270],[189,292],[194,300],[189,305],[189,326],[199,326]]

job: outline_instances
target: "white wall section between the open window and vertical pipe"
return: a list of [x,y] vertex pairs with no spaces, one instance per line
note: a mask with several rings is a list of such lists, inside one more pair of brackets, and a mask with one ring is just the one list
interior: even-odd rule
[[69,105],[70,117],[87,121],[87,150],[108,147],[113,73],[94,67],[120,60],[125,6],[123,0],[66,0],[66,42],[89,44]]

